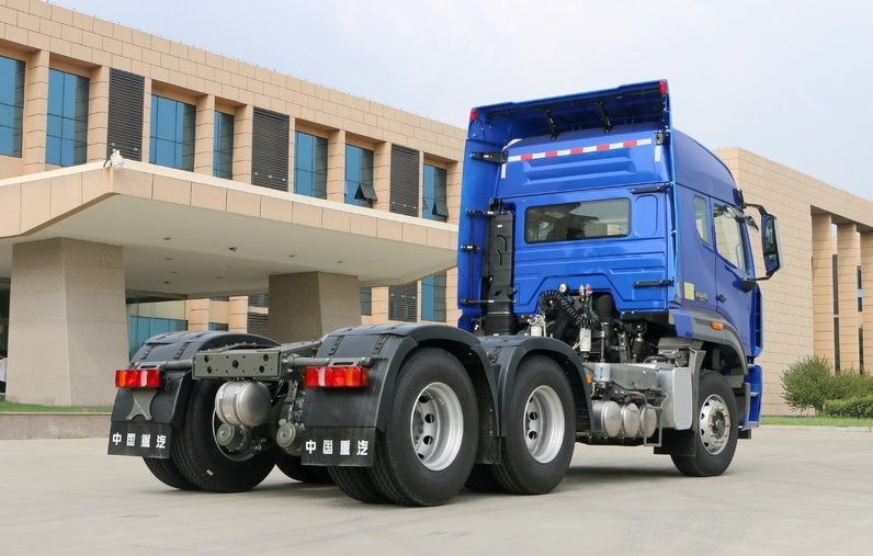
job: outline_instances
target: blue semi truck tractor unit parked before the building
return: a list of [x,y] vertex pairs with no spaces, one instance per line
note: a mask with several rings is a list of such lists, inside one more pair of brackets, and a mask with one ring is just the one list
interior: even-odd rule
[[473,110],[458,327],[151,338],[116,373],[110,454],[180,489],[247,490],[279,466],[407,506],[548,492],[577,442],[722,474],[760,419],[779,234],[670,114],[666,81]]

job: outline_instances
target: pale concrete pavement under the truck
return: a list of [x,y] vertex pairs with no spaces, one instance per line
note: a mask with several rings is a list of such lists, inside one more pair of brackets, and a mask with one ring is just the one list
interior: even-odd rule
[[[766,428],[722,477],[646,449],[579,445],[551,495],[365,506],[274,472],[240,495],[174,491],[105,441],[0,441],[0,552],[36,554],[870,554],[873,433]],[[298,551],[306,551],[302,553]],[[752,553],[753,551],[753,553]]]

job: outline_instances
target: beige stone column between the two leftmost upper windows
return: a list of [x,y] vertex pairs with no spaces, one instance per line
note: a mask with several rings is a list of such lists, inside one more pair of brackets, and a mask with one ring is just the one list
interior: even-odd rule
[[45,171],[48,118],[48,50],[27,55],[24,68],[24,114],[21,156],[24,173]]

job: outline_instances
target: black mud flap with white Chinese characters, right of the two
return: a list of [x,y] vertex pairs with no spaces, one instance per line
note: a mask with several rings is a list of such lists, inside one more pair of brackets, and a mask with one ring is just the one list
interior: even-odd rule
[[315,427],[306,429],[304,465],[370,467],[376,443],[375,428]]

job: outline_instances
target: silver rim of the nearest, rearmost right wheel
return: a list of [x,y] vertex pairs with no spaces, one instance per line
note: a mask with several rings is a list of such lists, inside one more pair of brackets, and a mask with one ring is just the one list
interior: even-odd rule
[[464,411],[455,392],[443,383],[427,385],[412,406],[409,434],[424,467],[439,472],[452,465],[464,440]]

